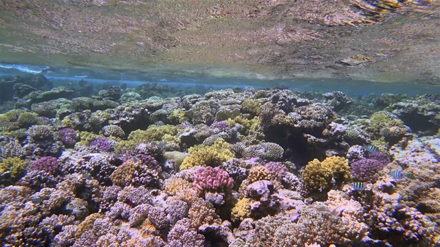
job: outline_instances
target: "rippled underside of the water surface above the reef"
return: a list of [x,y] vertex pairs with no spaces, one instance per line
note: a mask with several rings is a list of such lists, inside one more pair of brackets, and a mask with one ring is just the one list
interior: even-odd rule
[[439,1],[0,3],[0,62],[439,82]]

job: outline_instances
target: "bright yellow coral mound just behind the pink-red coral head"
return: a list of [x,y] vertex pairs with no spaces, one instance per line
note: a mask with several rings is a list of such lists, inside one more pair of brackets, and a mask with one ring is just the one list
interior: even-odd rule
[[195,166],[219,166],[221,163],[235,158],[231,145],[222,138],[217,139],[213,145],[195,145],[188,149],[189,155],[181,163],[180,169],[190,169]]

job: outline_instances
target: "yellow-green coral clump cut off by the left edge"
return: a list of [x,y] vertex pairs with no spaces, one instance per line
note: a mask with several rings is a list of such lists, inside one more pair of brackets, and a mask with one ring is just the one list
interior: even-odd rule
[[10,185],[17,182],[25,174],[27,166],[27,163],[21,158],[4,158],[3,162],[0,163],[0,183]]

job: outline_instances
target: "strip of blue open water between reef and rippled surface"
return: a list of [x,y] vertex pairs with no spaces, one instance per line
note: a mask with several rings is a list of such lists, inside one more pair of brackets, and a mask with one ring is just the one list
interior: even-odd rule
[[139,84],[154,83],[175,87],[205,86],[212,89],[231,87],[253,87],[256,89],[281,86],[293,91],[342,91],[347,95],[371,95],[382,93],[403,93],[409,96],[417,94],[440,93],[439,85],[414,83],[383,83],[344,79],[289,79],[263,80],[255,78],[214,78],[191,76],[179,73],[140,73],[136,71],[110,71],[103,69],[74,69],[63,67],[33,66],[26,64],[0,64],[0,76],[41,73],[52,80],[54,85],[86,80],[96,84],[126,84],[135,87]]

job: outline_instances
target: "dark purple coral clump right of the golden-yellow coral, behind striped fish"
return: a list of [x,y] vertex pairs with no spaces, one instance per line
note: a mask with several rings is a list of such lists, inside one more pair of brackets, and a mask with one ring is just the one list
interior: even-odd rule
[[386,163],[381,163],[373,158],[364,158],[351,164],[353,180],[374,183],[377,172],[382,170]]

